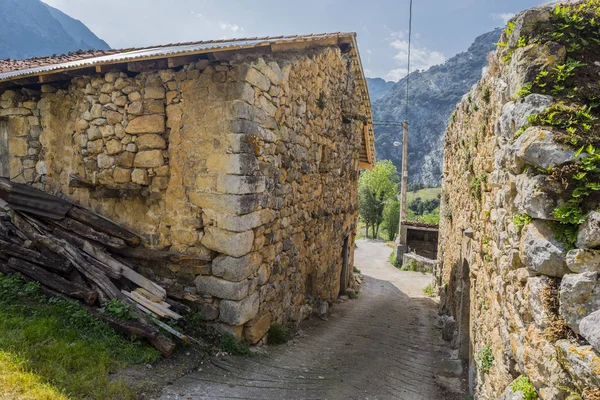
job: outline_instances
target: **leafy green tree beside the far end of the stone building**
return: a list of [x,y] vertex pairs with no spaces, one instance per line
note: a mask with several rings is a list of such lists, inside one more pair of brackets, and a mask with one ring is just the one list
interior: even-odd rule
[[358,180],[359,214],[373,238],[379,234],[385,205],[398,194],[398,171],[390,160],[379,161],[371,171],[363,171]]

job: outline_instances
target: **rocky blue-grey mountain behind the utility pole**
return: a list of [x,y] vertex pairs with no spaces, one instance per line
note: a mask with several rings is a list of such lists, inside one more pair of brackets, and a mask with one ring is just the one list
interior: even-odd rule
[[[469,49],[442,65],[410,74],[409,181],[439,186],[442,177],[443,136],[446,124],[461,98],[481,78],[487,55],[495,48],[501,29],[475,39]],[[386,95],[373,102],[377,159],[402,166],[402,127],[377,122],[406,119],[407,78],[394,84]]]

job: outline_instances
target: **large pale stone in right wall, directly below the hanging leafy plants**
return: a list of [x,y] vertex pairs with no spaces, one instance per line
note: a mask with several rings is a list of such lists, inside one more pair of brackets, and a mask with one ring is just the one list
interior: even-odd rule
[[565,252],[544,221],[533,220],[523,228],[520,257],[530,270],[555,277],[569,273]]

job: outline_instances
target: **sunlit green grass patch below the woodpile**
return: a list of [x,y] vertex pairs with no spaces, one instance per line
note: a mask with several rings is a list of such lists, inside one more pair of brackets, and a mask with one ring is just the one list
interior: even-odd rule
[[121,368],[159,353],[123,338],[77,302],[0,274],[0,393],[8,399],[134,399]]

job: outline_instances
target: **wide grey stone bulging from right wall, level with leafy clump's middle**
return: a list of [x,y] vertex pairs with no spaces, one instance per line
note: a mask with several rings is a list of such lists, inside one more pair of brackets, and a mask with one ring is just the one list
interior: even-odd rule
[[511,149],[523,162],[543,169],[577,159],[575,150],[565,144],[555,143],[553,138],[552,131],[534,126],[523,132]]

